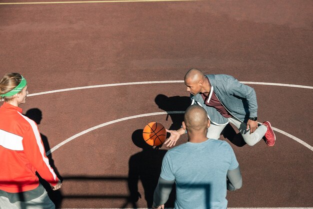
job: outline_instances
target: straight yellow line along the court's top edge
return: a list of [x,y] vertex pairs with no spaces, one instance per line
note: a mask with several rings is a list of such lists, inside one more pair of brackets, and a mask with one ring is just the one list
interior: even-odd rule
[[111,0],[111,1],[69,1],[69,2],[7,2],[0,5],[52,5],[52,4],[94,4],[94,3],[134,3],[134,2],[199,2],[204,0]]

